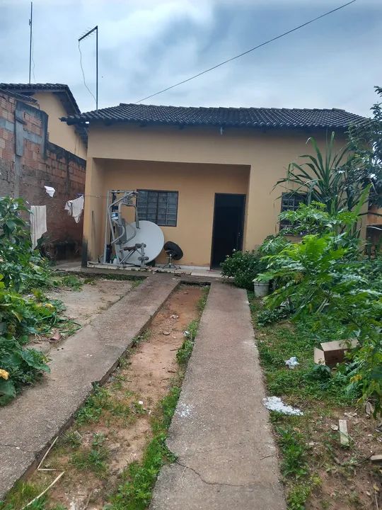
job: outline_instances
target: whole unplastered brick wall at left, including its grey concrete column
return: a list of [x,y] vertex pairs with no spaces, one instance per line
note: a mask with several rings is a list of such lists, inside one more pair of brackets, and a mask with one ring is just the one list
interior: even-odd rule
[[[82,220],[64,210],[67,200],[85,191],[86,162],[47,141],[47,115],[0,93],[0,196],[21,196],[30,205],[47,205],[47,239],[59,254],[79,251]],[[54,197],[44,186],[52,186]]]

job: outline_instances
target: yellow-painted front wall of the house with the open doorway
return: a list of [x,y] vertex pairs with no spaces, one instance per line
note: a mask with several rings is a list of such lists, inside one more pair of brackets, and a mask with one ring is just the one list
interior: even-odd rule
[[[218,128],[92,125],[87,174],[98,165],[102,176],[97,184],[86,177],[84,238],[91,258],[102,253],[104,229],[104,222],[96,226],[100,234],[95,242],[91,214],[100,208],[101,199],[88,195],[97,194],[96,188],[104,195],[110,188],[180,191],[178,227],[163,227],[163,232],[182,247],[182,263],[205,266],[210,261],[214,193],[245,193],[244,248],[255,248],[278,230],[282,189],[273,186],[286,175],[289,162],[308,151],[306,140],[311,135],[303,130],[228,129],[221,135]],[[325,133],[314,135],[323,146]],[[345,139],[338,141],[339,147],[343,144]],[[202,249],[195,249],[195,237]]]

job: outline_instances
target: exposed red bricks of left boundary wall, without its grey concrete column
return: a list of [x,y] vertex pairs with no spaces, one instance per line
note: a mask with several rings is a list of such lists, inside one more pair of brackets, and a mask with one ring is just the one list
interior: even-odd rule
[[[12,101],[11,101],[12,99]],[[14,124],[16,101],[0,93],[0,116]],[[23,112],[24,131],[44,136],[39,112],[32,113],[30,108]],[[74,222],[64,212],[66,200],[76,198],[85,188],[85,166],[74,154],[49,142],[42,155],[42,147],[38,143],[24,140],[24,151],[21,157],[22,176],[20,193],[31,205],[47,205],[47,235],[59,242],[74,240],[79,246],[82,239],[82,222]],[[0,196],[13,193],[14,189],[15,140],[13,132],[0,129]],[[68,172],[69,165],[69,172]],[[53,186],[56,190],[50,198],[44,186]]]

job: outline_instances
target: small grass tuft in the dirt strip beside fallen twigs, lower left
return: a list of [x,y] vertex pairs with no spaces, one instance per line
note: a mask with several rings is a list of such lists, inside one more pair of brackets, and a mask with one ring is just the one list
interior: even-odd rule
[[71,464],[80,471],[91,470],[96,473],[96,475],[104,477],[108,472],[106,460],[109,458],[109,451],[104,443],[105,436],[100,433],[95,433],[91,448],[84,448],[74,453],[71,456]]

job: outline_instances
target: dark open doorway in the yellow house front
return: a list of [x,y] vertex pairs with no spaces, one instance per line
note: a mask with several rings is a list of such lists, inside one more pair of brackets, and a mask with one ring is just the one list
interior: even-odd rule
[[245,195],[215,193],[211,267],[219,268],[234,249],[243,248]]

